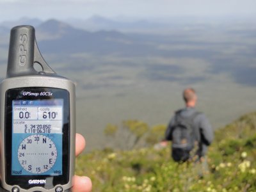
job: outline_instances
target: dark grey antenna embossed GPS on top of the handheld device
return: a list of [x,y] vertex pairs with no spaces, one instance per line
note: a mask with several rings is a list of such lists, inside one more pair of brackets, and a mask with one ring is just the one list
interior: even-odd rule
[[[34,63],[42,67],[42,72],[34,68]],[[10,47],[6,77],[56,74],[40,54],[33,26],[16,26],[10,35]]]

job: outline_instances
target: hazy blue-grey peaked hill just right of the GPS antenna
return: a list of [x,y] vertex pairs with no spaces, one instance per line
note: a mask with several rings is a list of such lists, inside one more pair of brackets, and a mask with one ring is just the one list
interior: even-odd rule
[[113,30],[89,32],[53,19],[37,26],[36,36],[39,36],[40,49],[45,53],[139,54],[149,51],[149,46],[138,41],[136,36]]

